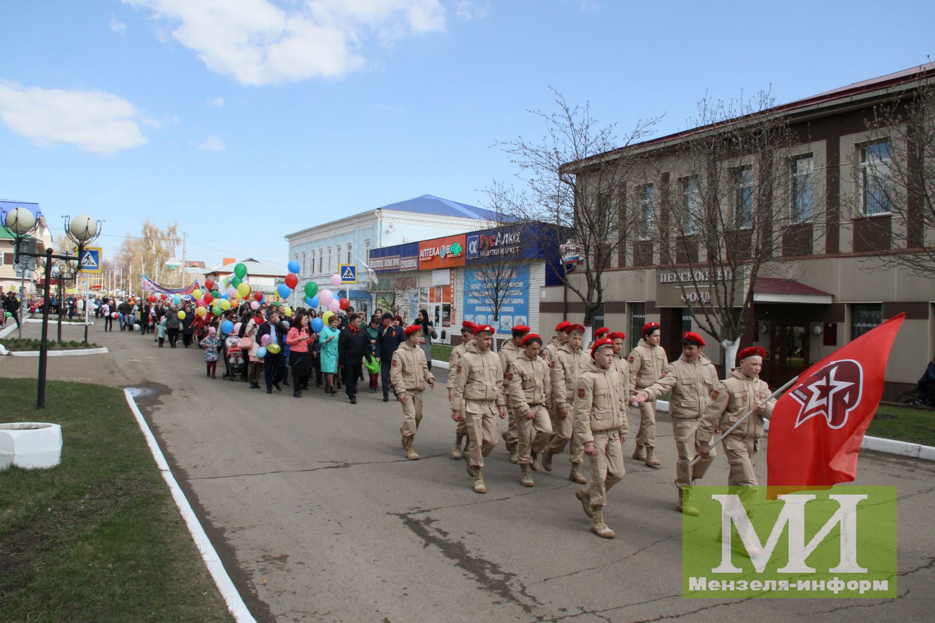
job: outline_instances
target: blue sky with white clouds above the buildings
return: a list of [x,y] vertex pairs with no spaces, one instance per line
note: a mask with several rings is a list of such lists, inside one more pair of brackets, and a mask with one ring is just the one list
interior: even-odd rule
[[931,2],[7,0],[0,198],[179,220],[189,254],[285,262],[284,234],[435,194],[482,205],[549,87],[621,129],[706,92],[777,102],[927,62]]

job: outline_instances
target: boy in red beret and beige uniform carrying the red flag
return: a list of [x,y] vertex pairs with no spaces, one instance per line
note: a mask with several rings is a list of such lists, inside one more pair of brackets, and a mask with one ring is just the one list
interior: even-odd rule
[[763,418],[770,418],[776,404],[775,398],[770,399],[770,386],[759,378],[764,357],[766,350],[760,347],[741,350],[741,367],[731,370],[730,376],[717,384],[711,404],[698,422],[698,454],[707,459],[712,451],[709,443],[713,432],[726,431],[748,411],[754,412],[724,438],[724,455],[730,468],[728,487],[756,487],[757,441],[763,436]]

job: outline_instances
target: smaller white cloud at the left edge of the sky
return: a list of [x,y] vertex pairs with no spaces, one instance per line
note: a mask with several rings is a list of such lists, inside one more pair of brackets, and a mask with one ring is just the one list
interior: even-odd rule
[[0,120],[39,147],[75,145],[110,156],[146,143],[136,106],[103,91],[23,87],[0,80]]

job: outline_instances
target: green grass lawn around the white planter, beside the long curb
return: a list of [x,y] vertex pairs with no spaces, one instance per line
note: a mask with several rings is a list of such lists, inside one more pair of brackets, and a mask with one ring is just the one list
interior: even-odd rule
[[0,472],[0,621],[233,621],[120,389],[0,378],[3,421],[62,426],[62,463]]

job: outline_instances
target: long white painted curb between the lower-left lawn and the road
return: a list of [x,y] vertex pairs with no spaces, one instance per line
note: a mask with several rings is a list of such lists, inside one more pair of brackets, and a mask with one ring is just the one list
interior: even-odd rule
[[198,517],[194,516],[192,505],[188,503],[188,500],[185,498],[185,493],[179,487],[175,476],[172,475],[168,463],[165,462],[163,451],[159,449],[159,444],[156,443],[156,438],[152,436],[150,426],[146,423],[146,419],[143,418],[143,414],[140,413],[136,401],[133,400],[133,396],[130,395],[130,392],[126,389],[123,389],[123,395],[126,397],[126,403],[130,405],[130,410],[133,411],[134,417],[137,418],[139,429],[146,437],[146,443],[150,446],[152,458],[156,460],[159,471],[163,473],[165,484],[168,485],[169,490],[172,491],[172,498],[175,500],[176,505],[179,506],[181,517],[185,519],[185,525],[188,526],[188,531],[192,533],[194,545],[198,548],[198,551],[201,552],[201,558],[204,559],[205,564],[208,565],[208,571],[211,573],[211,577],[214,578],[214,583],[217,585],[218,590],[221,591],[224,602],[227,603],[227,609],[234,615],[238,623],[256,623],[256,619],[253,618],[250,614],[250,610],[247,609],[247,604],[243,602],[240,593],[237,592],[234,582],[231,581],[230,575],[224,570],[221,558],[214,549],[214,545],[211,545],[208,535],[205,534],[205,530],[201,527],[201,523],[198,522]]

